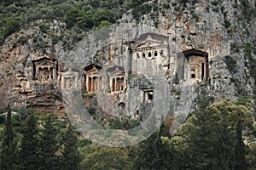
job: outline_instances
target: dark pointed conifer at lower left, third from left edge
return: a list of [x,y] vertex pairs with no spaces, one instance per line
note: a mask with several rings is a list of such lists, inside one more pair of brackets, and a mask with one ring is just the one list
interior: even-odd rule
[[60,169],[60,157],[56,155],[59,150],[57,139],[58,131],[54,127],[51,116],[47,117],[44,130],[40,137],[40,167],[39,169]]

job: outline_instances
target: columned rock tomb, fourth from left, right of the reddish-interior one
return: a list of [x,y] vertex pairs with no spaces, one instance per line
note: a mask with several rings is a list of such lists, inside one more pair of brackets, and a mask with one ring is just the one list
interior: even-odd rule
[[108,68],[109,87],[111,92],[119,92],[125,89],[125,69],[121,66]]

